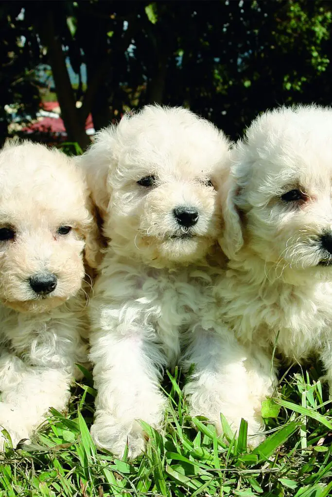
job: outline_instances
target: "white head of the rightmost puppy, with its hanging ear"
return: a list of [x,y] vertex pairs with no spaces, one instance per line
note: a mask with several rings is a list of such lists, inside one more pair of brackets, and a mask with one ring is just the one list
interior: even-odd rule
[[281,270],[324,273],[332,265],[332,109],[263,114],[232,162],[223,191],[227,255],[236,258],[244,240]]

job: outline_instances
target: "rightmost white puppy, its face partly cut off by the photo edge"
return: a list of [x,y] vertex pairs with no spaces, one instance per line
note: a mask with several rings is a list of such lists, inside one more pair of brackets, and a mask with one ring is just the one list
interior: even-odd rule
[[254,432],[274,390],[274,346],[289,360],[318,355],[332,387],[332,109],[263,114],[232,160],[221,239],[230,261],[217,292],[233,354],[243,351],[246,380],[232,383],[246,381],[238,407]]

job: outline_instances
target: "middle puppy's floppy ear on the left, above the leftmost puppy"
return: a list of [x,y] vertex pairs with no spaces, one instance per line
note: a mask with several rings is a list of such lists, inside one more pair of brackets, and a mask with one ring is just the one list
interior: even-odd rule
[[108,175],[113,162],[115,134],[116,126],[113,125],[99,131],[95,143],[77,159],[85,173],[92,200],[102,218],[107,213],[110,201]]

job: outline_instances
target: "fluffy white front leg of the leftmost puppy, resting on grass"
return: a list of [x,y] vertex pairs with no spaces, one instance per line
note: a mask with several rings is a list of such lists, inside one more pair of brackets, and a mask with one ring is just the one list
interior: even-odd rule
[[[29,439],[50,407],[63,410],[69,399],[71,375],[64,369],[29,366],[18,357],[0,357],[0,432],[5,428],[16,447]],[[0,434],[0,451],[4,437]]]

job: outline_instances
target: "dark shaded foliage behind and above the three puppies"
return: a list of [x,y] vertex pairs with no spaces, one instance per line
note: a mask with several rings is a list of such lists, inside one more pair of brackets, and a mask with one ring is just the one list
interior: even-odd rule
[[[1,87],[6,88],[1,102],[22,102],[27,113],[36,98],[30,70],[43,47],[68,138],[83,148],[90,112],[100,129],[124,110],[145,103],[186,105],[235,139],[266,108],[331,103],[330,1],[89,0],[41,5],[23,0],[5,5],[10,18],[1,16],[0,36],[6,40],[0,49]],[[22,7],[23,20],[13,22]],[[17,42],[21,33],[26,37],[22,47]],[[76,87],[66,57],[80,75]],[[77,100],[82,101],[80,108]]]

